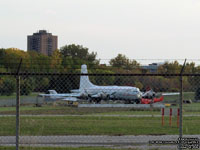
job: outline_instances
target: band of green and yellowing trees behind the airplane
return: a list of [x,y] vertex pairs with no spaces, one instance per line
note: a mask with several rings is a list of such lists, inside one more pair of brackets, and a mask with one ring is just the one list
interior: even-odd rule
[[[87,64],[89,73],[100,74],[140,74],[142,68],[136,60],[130,60],[123,54],[118,54],[111,59],[108,65],[100,65],[97,53],[89,52],[82,45],[65,45],[60,50],[54,51],[52,56],[45,56],[34,51],[22,51],[19,49],[0,49],[0,72],[16,72],[20,59],[23,58],[21,72],[62,72],[80,73],[80,66]],[[178,61],[166,62],[159,66],[157,73],[170,74],[180,73],[182,65]],[[195,63],[187,63],[185,73],[200,73],[200,66]],[[148,73],[148,72],[143,72]],[[27,78],[27,79],[26,79]],[[28,79],[30,78],[30,79]],[[162,77],[138,77],[138,76],[91,76],[91,81],[97,85],[127,85],[135,86],[145,90],[147,86],[155,91],[168,92],[178,91],[179,78],[172,76]],[[69,92],[71,89],[79,88],[79,76],[48,76],[48,77],[23,77],[21,80],[21,94],[30,94],[32,91],[44,92],[48,89],[56,89],[58,92]],[[184,91],[195,91],[200,78],[196,76],[184,76]],[[37,86],[35,86],[37,85]],[[9,89],[6,86],[10,86]],[[10,95],[15,90],[15,81],[8,77],[0,77],[0,94]],[[10,92],[10,93],[9,93]],[[196,91],[198,97],[199,91]]]

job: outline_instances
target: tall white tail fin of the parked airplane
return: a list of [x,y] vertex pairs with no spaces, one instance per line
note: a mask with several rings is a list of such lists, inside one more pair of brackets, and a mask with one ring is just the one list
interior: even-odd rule
[[[87,71],[87,65],[81,65],[81,73],[82,74],[87,74],[88,71]],[[89,88],[89,87],[92,87],[94,86],[94,84],[92,84],[89,80],[89,77],[86,76],[86,75],[82,75],[80,77],[80,87],[79,89],[80,90],[84,90],[85,88]]]

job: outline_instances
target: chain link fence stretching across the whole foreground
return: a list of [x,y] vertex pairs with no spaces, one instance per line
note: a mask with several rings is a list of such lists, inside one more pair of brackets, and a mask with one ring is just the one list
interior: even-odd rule
[[198,148],[198,73],[90,73],[89,67],[88,73],[80,67],[75,73],[20,67],[1,73],[2,149]]

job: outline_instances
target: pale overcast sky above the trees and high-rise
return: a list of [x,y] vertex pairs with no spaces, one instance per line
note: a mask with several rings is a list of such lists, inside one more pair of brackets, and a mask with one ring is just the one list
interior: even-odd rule
[[199,59],[199,0],[0,0],[0,48],[27,49],[48,30],[107,60]]

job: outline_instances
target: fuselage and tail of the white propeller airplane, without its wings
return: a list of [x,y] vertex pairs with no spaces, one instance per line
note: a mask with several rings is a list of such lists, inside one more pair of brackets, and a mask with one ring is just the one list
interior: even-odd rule
[[[81,66],[81,73],[87,74],[87,65]],[[128,103],[140,103],[142,93],[139,88],[131,86],[98,86],[90,82],[89,77],[80,77],[79,91],[88,95],[89,101],[99,103],[101,100],[125,100]]]

